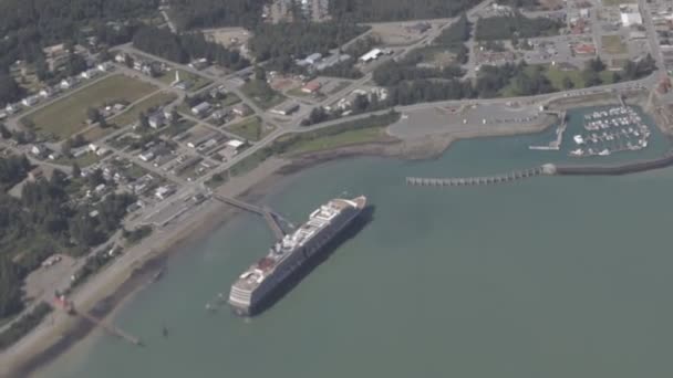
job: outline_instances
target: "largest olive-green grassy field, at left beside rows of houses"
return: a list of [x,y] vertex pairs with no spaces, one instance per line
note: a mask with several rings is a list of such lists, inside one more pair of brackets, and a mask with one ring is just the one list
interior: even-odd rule
[[118,99],[134,102],[155,88],[152,84],[128,76],[113,75],[72,93],[25,118],[35,125],[38,133],[64,139],[84,127],[89,107],[100,107]]

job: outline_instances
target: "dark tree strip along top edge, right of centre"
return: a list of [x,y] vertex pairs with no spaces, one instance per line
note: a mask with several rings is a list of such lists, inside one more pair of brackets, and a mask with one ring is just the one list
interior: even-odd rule
[[361,22],[451,18],[476,6],[476,0],[340,0],[330,14]]

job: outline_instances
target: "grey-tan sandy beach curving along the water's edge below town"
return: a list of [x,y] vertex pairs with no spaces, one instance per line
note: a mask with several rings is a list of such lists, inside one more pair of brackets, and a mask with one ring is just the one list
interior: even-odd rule
[[[581,106],[614,103],[614,97],[587,101]],[[629,103],[642,104],[642,98],[633,97]],[[572,103],[555,104],[561,109],[577,106]],[[658,119],[658,125],[660,119]],[[356,156],[384,156],[405,159],[428,159],[441,156],[449,145],[464,138],[530,134],[545,130],[556,119],[547,117],[535,125],[511,125],[506,128],[488,129],[477,127],[443,135],[432,135],[411,139],[382,136],[380,140],[351,145],[333,150],[309,153],[282,158],[270,158],[252,171],[235,177],[217,189],[217,192],[236,197],[248,202],[258,202],[279,179],[302,169],[325,161]],[[660,125],[665,133],[664,126]],[[217,203],[217,206],[214,206]],[[151,284],[152,276],[163,269],[166,259],[195,240],[207,235],[231,220],[239,211],[215,201],[206,201],[195,207],[166,227],[156,230],[149,238],[130,248],[124,255],[92,277],[72,296],[82,311],[106,317],[114,314],[124,301]],[[43,322],[20,343],[0,355],[0,377],[28,377],[40,367],[68,351],[92,330],[85,321],[71,317],[55,309],[49,322]]]

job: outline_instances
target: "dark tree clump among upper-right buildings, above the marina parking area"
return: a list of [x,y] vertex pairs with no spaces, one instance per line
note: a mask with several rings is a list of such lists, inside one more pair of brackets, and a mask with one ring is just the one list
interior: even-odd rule
[[527,18],[520,12],[496,15],[477,21],[475,38],[478,41],[509,40],[556,35],[563,22],[545,17]]

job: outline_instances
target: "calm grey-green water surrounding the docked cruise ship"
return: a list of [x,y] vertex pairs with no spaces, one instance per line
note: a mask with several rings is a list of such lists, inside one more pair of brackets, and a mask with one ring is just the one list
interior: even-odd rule
[[[432,161],[352,159],[294,176],[267,199],[288,218],[348,191],[370,198],[374,220],[275,307],[251,321],[204,309],[271,241],[262,221],[244,216],[173,259],[114,319],[146,348],[91,338],[39,376],[669,378],[673,169],[404,185],[412,175],[569,160],[528,150],[552,133],[460,141]],[[610,159],[654,156],[667,141],[651,146]]]

